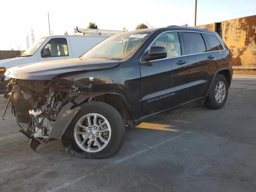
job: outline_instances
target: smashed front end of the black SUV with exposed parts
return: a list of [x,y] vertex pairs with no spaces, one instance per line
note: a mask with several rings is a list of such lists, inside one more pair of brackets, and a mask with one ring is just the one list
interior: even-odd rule
[[35,151],[40,143],[60,139],[70,122],[80,110],[79,104],[90,100],[91,84],[84,85],[67,79],[20,80],[10,78],[8,98],[16,116],[20,132],[30,138],[30,147]]

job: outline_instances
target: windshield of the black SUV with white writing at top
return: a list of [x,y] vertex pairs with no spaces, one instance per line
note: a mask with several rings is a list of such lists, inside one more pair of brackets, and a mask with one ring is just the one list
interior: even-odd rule
[[94,46],[81,58],[126,60],[130,58],[152,32],[125,32],[111,36]]

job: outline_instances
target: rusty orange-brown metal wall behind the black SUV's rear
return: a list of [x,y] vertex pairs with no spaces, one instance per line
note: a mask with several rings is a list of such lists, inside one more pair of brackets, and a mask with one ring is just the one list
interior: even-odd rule
[[[223,21],[222,39],[233,54],[233,66],[256,66],[256,15]],[[198,26],[215,31],[215,23]]]

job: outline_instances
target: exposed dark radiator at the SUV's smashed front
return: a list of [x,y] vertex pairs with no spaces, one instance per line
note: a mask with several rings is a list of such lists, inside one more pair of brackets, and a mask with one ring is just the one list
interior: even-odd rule
[[23,93],[14,92],[13,102],[16,113],[16,120],[18,123],[29,123],[29,110],[32,109],[33,99],[32,97],[25,99]]

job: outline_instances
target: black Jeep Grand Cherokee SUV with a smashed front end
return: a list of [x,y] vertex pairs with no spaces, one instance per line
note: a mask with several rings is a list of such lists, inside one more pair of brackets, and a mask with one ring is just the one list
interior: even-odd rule
[[7,70],[5,97],[33,150],[62,139],[75,156],[109,158],[122,147],[125,125],[193,101],[221,108],[231,59],[220,36],[206,29],[124,32],[80,58]]

